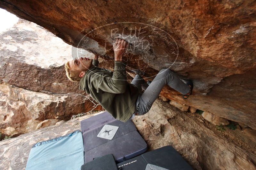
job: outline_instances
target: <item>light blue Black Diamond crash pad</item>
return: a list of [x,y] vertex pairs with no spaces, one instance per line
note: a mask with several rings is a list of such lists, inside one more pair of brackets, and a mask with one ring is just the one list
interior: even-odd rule
[[81,131],[33,145],[26,170],[76,170],[84,164],[84,145]]

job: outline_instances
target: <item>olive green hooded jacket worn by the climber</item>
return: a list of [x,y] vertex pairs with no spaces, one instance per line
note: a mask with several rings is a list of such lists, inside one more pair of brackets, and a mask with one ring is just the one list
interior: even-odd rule
[[125,63],[115,61],[114,72],[98,64],[98,60],[92,61],[93,67],[85,72],[79,89],[90,94],[115,119],[126,122],[136,110],[139,89],[127,82]]

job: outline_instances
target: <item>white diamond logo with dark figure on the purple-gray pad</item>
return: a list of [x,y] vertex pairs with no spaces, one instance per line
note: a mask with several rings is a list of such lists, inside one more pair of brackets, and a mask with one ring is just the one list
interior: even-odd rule
[[112,125],[105,124],[102,127],[102,129],[100,130],[97,137],[112,140],[114,138],[118,128],[119,128],[118,126],[112,126]]

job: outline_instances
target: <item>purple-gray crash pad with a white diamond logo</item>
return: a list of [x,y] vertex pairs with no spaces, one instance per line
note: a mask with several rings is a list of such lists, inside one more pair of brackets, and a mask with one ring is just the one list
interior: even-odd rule
[[107,111],[81,121],[81,129],[85,163],[107,154],[122,162],[147,151],[147,144],[132,121],[121,122]]

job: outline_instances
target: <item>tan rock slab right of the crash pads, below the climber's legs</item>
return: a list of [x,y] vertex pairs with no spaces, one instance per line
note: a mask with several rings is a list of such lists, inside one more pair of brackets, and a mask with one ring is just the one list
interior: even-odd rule
[[[202,121],[200,115],[184,113],[160,100],[133,122],[150,150],[172,145],[195,169],[256,168],[256,136],[252,132],[252,138],[239,130],[227,129],[221,134],[214,125]],[[242,138],[247,141],[241,142]]]

